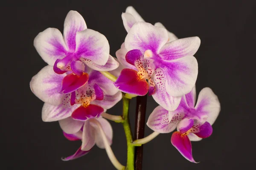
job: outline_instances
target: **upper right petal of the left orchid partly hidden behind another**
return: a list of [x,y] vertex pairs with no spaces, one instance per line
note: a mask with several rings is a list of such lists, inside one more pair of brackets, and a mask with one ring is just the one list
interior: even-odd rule
[[93,85],[95,83],[97,83],[97,85],[99,85],[102,91],[107,95],[114,95],[119,91],[110,79],[105,77],[99,71],[93,70],[89,73],[88,84]]

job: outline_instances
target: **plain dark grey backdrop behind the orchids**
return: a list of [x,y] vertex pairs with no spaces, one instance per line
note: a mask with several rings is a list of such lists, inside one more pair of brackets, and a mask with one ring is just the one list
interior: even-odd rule
[[[35,36],[48,27],[63,31],[70,10],[79,11],[87,27],[104,34],[111,54],[125,39],[121,14],[134,6],[149,23],[161,22],[179,38],[198,36],[201,46],[195,57],[199,74],[197,94],[210,87],[221,102],[221,113],[213,134],[192,142],[199,164],[184,159],[170,142],[171,134],[160,134],[145,144],[143,169],[247,168],[255,161],[255,48],[256,3],[251,0],[62,0],[13,3],[1,7],[1,169],[8,170],[113,170],[105,150],[93,147],[82,158],[61,161],[73,154],[81,142],[64,138],[58,122],[42,122],[40,101],[29,88],[32,76],[47,65],[33,47]],[[2,4],[3,5],[3,4]],[[16,6],[14,6],[16,5]],[[136,99],[131,101],[134,128]],[[149,97],[146,119],[157,106]],[[108,112],[121,114],[119,103]],[[126,163],[122,125],[113,125],[113,152]],[[146,127],[145,134],[151,130]]]

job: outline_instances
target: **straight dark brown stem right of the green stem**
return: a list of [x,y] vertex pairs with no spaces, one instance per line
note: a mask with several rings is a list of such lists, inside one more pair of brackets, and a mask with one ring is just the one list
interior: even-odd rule
[[[136,117],[135,117],[135,140],[144,137],[145,113],[147,105],[147,95],[137,96]],[[142,170],[143,145],[135,147],[135,170]]]

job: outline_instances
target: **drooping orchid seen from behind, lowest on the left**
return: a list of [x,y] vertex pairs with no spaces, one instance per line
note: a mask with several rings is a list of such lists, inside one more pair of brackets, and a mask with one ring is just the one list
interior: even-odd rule
[[105,144],[102,139],[103,136],[99,132],[99,128],[95,124],[95,121],[101,124],[105,136],[108,139],[108,145],[111,145],[113,130],[110,123],[106,119],[102,118],[102,116],[99,118],[89,119],[84,122],[74,120],[72,117],[68,117],[59,121],[61,129],[63,130],[63,134],[68,140],[82,141],[81,147],[79,147],[76,153],[63,159],[64,161],[69,161],[86,155],[95,144],[99,148],[105,149]]

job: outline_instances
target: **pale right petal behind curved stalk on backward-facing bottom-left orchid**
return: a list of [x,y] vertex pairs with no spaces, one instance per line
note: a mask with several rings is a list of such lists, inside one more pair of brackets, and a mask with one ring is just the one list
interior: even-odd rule
[[[113,139],[113,130],[112,130],[112,127],[111,127],[110,123],[102,117],[99,117],[97,119],[97,121],[101,124],[102,129],[104,130],[105,135],[108,139],[109,145],[111,145],[112,144],[112,139]],[[91,123],[91,125],[95,126],[95,129],[96,129],[96,131],[95,131],[96,132],[95,133],[96,145],[101,149],[105,149],[105,145],[104,145],[104,142],[102,140],[101,133],[99,132],[98,127],[96,127],[97,125],[93,125],[92,123]]]

